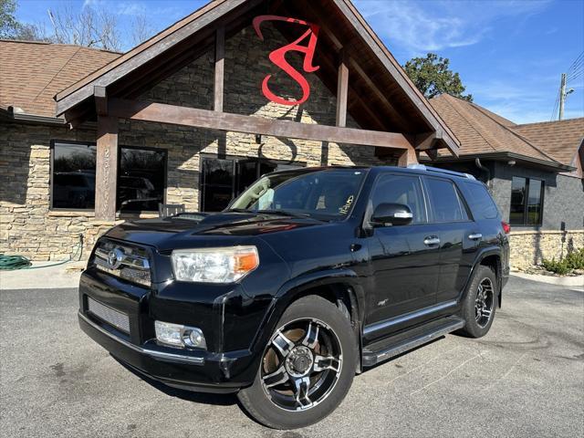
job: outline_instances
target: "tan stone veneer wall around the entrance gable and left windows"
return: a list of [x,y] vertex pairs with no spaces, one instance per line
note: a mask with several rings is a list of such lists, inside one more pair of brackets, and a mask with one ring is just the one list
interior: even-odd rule
[[[266,42],[261,42],[250,27],[226,41],[224,110],[334,125],[336,99],[316,75],[308,75],[311,95],[304,105],[288,107],[266,101],[259,84],[269,72],[275,74],[275,91],[297,88],[267,58],[284,39],[270,26],[266,26],[264,34]],[[295,62],[299,61],[297,57]],[[213,57],[209,53],[163,80],[141,99],[210,109],[213,75]],[[357,127],[350,118],[348,125]],[[0,253],[25,255],[33,260],[67,259],[78,244],[79,235],[83,235],[87,256],[97,237],[114,224],[95,221],[92,212],[50,210],[52,140],[95,142],[95,124],[68,130],[64,126],[0,123]],[[391,164],[379,161],[372,147],[269,137],[256,144],[255,136],[249,134],[134,120],[120,120],[119,143],[168,150],[166,202],[184,203],[191,211],[199,207],[201,152],[243,157],[259,154],[307,166]]]

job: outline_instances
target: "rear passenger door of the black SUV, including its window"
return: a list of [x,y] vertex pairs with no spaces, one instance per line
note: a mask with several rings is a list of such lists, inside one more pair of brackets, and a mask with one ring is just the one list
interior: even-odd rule
[[440,239],[440,273],[436,302],[456,300],[470,275],[482,235],[470,218],[461,193],[447,178],[424,177],[430,201],[430,221]]

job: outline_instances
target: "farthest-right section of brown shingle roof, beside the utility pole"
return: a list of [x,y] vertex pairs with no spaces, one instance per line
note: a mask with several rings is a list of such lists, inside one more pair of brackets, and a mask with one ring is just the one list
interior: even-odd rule
[[513,130],[558,162],[574,166],[584,140],[584,118],[516,125]]

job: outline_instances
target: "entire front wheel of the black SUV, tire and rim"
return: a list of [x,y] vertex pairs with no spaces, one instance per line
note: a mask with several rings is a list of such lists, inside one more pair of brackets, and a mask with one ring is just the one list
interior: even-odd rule
[[284,312],[264,350],[254,384],[239,391],[245,410],[275,429],[318,422],[343,400],[357,361],[349,319],[322,297]]

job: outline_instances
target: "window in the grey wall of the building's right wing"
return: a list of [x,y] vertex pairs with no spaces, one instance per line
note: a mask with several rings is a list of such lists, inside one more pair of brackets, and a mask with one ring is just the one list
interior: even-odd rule
[[544,183],[532,178],[513,177],[509,223],[540,225],[544,209]]

